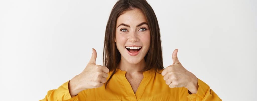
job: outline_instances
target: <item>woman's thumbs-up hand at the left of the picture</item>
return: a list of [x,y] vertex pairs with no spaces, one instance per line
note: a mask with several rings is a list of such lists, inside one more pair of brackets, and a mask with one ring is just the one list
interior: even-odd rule
[[107,67],[96,65],[96,50],[93,48],[91,59],[86,68],[69,82],[69,91],[71,96],[77,95],[80,91],[98,88],[107,81],[109,69]]

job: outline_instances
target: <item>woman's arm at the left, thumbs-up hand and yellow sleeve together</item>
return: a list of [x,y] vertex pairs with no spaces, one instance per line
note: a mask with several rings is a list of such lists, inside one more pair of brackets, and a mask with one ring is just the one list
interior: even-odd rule
[[[109,69],[101,65],[96,65],[97,53],[95,49],[92,49],[92,51],[91,59],[86,68],[58,89],[49,90],[42,101],[85,100],[87,89],[103,86],[107,81]],[[79,95],[80,97],[77,97]]]

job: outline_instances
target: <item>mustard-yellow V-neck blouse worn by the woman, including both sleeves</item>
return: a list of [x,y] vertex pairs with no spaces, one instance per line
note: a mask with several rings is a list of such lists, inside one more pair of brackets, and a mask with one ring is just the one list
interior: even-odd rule
[[[158,70],[158,72],[162,72]],[[112,72],[108,73],[108,78]],[[210,87],[198,79],[198,91],[189,94],[185,87],[169,88],[163,76],[152,68],[143,72],[139,87],[134,93],[125,77],[126,71],[116,69],[116,73],[105,85],[99,88],[86,89],[76,96],[71,96],[68,89],[69,81],[58,89],[49,90],[41,101],[221,101]]]

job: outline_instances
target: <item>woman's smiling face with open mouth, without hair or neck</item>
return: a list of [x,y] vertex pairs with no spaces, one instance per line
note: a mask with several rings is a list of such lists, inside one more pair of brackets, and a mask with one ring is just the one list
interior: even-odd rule
[[116,46],[121,58],[137,64],[144,59],[150,47],[150,30],[143,12],[138,8],[125,11],[117,19]]

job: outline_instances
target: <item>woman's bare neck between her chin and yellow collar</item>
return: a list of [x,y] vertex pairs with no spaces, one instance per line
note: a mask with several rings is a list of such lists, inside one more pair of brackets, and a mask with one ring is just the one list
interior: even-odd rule
[[124,58],[121,58],[121,61],[118,63],[117,68],[123,71],[126,71],[126,74],[138,74],[146,66],[145,60],[142,59],[137,64],[131,64],[127,62]]

